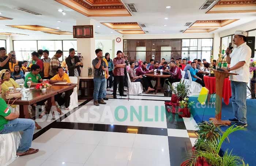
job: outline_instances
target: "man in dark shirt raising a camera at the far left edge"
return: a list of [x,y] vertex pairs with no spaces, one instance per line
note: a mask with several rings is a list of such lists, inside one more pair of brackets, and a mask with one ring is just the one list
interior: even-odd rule
[[4,47],[0,48],[0,71],[2,69],[10,70],[9,62],[16,64],[16,57],[15,54],[9,53],[6,56],[6,50]]

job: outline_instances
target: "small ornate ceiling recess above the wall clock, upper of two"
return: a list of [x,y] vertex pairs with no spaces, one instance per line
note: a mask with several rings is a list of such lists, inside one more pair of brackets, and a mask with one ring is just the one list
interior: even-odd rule
[[113,30],[141,30],[137,22],[102,23]]

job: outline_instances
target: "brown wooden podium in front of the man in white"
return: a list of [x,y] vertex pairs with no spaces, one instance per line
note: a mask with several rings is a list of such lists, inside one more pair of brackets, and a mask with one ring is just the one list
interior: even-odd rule
[[229,120],[221,120],[221,109],[222,109],[222,89],[224,79],[229,75],[238,75],[236,73],[230,73],[225,71],[219,71],[212,69],[216,78],[216,102],[215,102],[215,118],[210,118],[215,125],[231,125]]

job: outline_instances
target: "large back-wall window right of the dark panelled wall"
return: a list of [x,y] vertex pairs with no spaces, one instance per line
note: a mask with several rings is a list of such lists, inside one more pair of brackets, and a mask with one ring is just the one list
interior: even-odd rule
[[210,61],[213,39],[182,39],[182,59]]

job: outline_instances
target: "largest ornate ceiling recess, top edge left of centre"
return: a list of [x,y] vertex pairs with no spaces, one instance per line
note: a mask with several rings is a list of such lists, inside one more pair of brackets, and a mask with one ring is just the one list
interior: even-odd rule
[[120,0],[55,0],[88,17],[131,16]]

